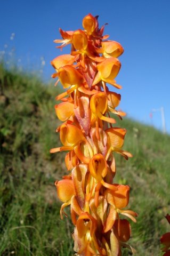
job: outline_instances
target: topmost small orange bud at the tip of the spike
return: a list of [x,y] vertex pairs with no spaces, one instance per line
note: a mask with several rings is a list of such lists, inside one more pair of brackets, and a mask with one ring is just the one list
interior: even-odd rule
[[88,14],[84,17],[83,28],[86,30],[88,35],[93,34],[96,25],[98,25],[98,21],[92,16],[92,14]]

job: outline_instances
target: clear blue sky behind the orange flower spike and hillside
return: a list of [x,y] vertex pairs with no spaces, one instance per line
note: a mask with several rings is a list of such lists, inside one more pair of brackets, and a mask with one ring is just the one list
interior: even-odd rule
[[[53,43],[61,38],[59,27],[79,29],[86,14],[99,15],[100,26],[109,23],[105,34],[125,49],[116,79],[123,86],[119,91],[120,107],[129,117],[149,124],[151,109],[164,107],[170,132],[169,0],[1,0],[0,3],[0,51],[14,46],[20,65],[28,68],[40,67],[43,57],[45,79],[50,79],[53,73],[50,60],[61,54]],[[15,33],[13,40],[12,33]],[[5,44],[8,48],[4,48]],[[63,53],[69,52],[69,46],[65,49]],[[153,113],[152,123],[161,129],[159,111]]]

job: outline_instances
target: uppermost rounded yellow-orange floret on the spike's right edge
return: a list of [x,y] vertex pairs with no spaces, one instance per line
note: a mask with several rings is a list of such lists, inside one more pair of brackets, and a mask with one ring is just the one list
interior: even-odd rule
[[121,44],[115,41],[104,41],[101,43],[102,45],[102,53],[106,58],[110,57],[119,57],[124,52],[124,49]]

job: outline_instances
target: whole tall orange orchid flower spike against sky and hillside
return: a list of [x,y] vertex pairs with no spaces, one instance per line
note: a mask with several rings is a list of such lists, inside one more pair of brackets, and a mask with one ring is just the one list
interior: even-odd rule
[[134,222],[137,214],[125,210],[129,202],[129,186],[113,183],[116,174],[115,153],[125,159],[131,153],[122,149],[126,130],[113,126],[113,113],[122,119],[123,111],[116,110],[120,94],[110,92],[106,83],[121,89],[115,81],[120,69],[117,59],[123,47],[103,36],[98,17],[91,14],[83,19],[83,28],[75,31],[60,29],[62,39],[58,48],[71,45],[71,54],[52,60],[58,78],[66,91],[56,97],[62,102],[55,112],[63,122],[60,132],[61,147],[51,153],[66,150],[68,175],[55,182],[58,197],[63,202],[61,218],[70,205],[71,220],[75,225],[74,250],[76,255],[122,255],[131,226],[124,215]]

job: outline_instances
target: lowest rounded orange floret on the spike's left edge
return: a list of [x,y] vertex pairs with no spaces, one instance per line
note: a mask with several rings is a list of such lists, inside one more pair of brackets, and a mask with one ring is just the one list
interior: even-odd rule
[[[62,219],[62,213],[64,213],[64,207],[68,206],[71,201],[71,197],[75,195],[75,189],[73,181],[70,179],[63,179],[60,181],[55,181],[56,190],[59,199],[64,202],[61,206],[60,215]],[[66,213],[64,213],[66,215]],[[67,215],[66,215],[67,216]]]

